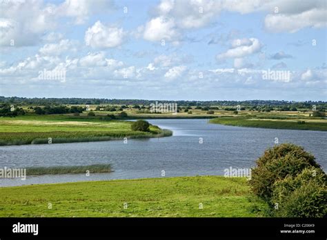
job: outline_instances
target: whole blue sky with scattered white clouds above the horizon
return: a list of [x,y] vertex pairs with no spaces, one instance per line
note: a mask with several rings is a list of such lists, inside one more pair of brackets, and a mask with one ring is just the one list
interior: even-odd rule
[[0,96],[327,101],[325,0],[1,0]]

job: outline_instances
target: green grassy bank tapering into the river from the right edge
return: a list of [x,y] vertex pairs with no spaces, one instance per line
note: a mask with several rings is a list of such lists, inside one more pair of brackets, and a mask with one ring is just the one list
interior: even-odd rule
[[219,117],[210,119],[209,122],[249,128],[327,131],[327,121],[325,119]]

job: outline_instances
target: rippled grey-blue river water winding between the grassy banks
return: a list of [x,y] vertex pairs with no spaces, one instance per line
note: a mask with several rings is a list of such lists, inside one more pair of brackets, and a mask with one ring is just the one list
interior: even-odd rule
[[[0,168],[73,166],[110,163],[115,172],[0,179],[0,186],[105,179],[224,174],[225,168],[250,168],[275,137],[312,152],[326,171],[327,132],[239,128],[206,119],[157,119],[150,123],[173,130],[172,137],[88,143],[1,146]],[[203,143],[199,143],[199,138]]]

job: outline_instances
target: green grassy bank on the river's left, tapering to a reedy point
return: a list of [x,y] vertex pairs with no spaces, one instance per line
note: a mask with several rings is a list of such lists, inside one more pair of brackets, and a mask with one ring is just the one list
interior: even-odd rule
[[166,137],[172,134],[157,126],[150,132],[132,131],[130,121],[101,121],[70,116],[26,116],[0,119],[0,145],[108,141],[127,138]]

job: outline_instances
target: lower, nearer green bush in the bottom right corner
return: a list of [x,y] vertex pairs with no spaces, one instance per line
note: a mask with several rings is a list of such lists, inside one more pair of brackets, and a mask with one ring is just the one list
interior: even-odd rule
[[273,203],[278,208],[273,217],[326,217],[327,177],[323,170],[305,168],[296,177],[277,180],[273,187]]

